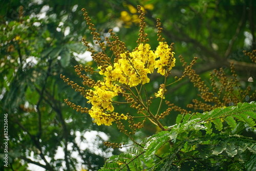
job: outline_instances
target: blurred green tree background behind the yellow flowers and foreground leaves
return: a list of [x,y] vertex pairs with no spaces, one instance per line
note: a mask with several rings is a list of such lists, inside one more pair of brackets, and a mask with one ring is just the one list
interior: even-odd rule
[[[256,77],[256,65],[243,51],[256,49],[256,1],[1,0],[1,170],[97,170],[110,155],[120,153],[119,149],[103,146],[103,141],[131,143],[115,124],[98,126],[88,114],[67,106],[65,98],[90,107],[60,79],[60,74],[82,85],[74,66],[96,67],[81,42],[84,37],[94,45],[82,8],[88,11],[102,37],[113,29],[131,51],[137,46],[139,33],[137,5],[145,10],[145,31],[152,49],[158,45],[157,18],[161,18],[165,40],[175,43],[176,67],[167,83],[182,75],[184,69],[178,60],[182,55],[188,63],[198,57],[194,69],[209,86],[209,72],[223,67],[228,74],[232,61],[242,89],[251,84],[255,91],[255,81],[247,80]],[[153,95],[163,78],[158,74],[150,78],[146,88]],[[168,87],[166,99],[186,109],[197,94],[193,84],[184,79]],[[158,104],[159,99],[153,101],[153,112]],[[116,109],[133,112],[121,105]],[[4,114],[8,114],[10,139],[5,169]],[[163,123],[171,125],[176,115],[172,111]],[[139,139],[157,131],[145,123],[143,131],[136,135]]]

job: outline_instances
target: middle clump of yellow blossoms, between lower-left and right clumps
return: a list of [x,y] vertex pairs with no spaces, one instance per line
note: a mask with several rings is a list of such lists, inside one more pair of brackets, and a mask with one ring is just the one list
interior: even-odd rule
[[[113,81],[118,81],[130,87],[139,83],[150,82],[147,77],[155,68],[155,54],[150,50],[149,44],[140,44],[138,49],[130,54],[122,53],[114,67],[109,66],[99,74],[105,76],[106,84],[110,86]],[[99,67],[101,69],[102,67]]]

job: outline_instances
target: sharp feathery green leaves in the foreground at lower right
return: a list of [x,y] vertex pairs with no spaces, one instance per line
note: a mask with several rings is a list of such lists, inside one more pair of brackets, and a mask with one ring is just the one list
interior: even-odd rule
[[[255,140],[234,130],[243,124],[254,131],[255,111],[250,102],[178,115],[175,125],[110,157],[100,170],[254,170]],[[164,145],[168,150],[159,154]]]

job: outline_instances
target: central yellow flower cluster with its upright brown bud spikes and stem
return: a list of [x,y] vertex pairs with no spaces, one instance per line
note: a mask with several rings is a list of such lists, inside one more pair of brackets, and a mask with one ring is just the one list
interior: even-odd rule
[[[65,82],[68,82],[68,84],[77,92],[80,92],[84,98],[87,98],[87,102],[91,103],[92,107],[91,109],[82,108],[80,105],[76,105],[67,99],[65,102],[77,112],[89,113],[94,119],[93,122],[98,125],[111,125],[113,122],[116,122],[120,132],[125,130],[124,125],[121,125],[120,120],[129,119],[130,128],[133,131],[131,134],[134,134],[136,129],[143,126],[143,123],[139,122],[138,124],[135,124],[132,121],[133,116],[129,113],[124,115],[114,112],[113,103],[127,103],[130,104],[131,108],[138,110],[138,114],[143,114],[145,117],[152,117],[153,120],[150,120],[157,124],[162,130],[165,130],[158,121],[160,117],[155,117],[148,109],[152,103],[151,100],[153,97],[147,97],[144,84],[150,82],[148,75],[152,74],[156,69],[159,74],[165,77],[165,80],[164,84],[160,85],[159,91],[155,93],[155,96],[163,99],[165,98],[166,77],[170,74],[170,70],[175,66],[176,61],[174,58],[173,44],[168,46],[167,43],[164,42],[165,39],[161,36],[162,28],[160,19],[158,18],[156,26],[158,30],[157,41],[159,42],[159,46],[156,50],[151,50],[151,46],[146,43],[149,39],[146,38],[147,34],[144,30],[146,23],[144,22],[145,13],[143,12],[142,7],[137,7],[139,15],[135,14],[136,9],[134,7],[131,5],[127,5],[127,7],[130,12],[134,14],[133,22],[138,22],[140,25],[139,38],[136,41],[138,43],[138,47],[136,47],[132,52],[126,51],[127,48],[125,43],[119,40],[119,37],[115,35],[112,29],[109,30],[110,37],[105,37],[105,41],[102,41],[100,34],[96,32],[96,28],[91,22],[91,18],[86,12],[86,9],[82,9],[84,12],[84,19],[86,19],[87,25],[93,35],[93,40],[95,40],[95,44],[98,44],[102,51],[95,53],[94,48],[90,47],[89,42],[85,38],[82,38],[82,42],[84,42],[84,46],[88,48],[88,51],[91,52],[91,56],[98,65],[98,73],[103,76],[103,80],[95,81],[87,74],[82,74],[83,71],[88,74],[97,73],[97,71],[94,71],[92,67],[82,67],[82,65],[76,66],[75,71],[80,78],[83,78],[83,85],[89,87],[90,90],[85,87],[78,86],[77,83],[69,80],[69,78],[65,78],[63,75],[61,75],[61,78]],[[154,6],[152,5],[145,5],[144,9],[153,9],[153,7]],[[125,17],[127,16],[127,13],[122,14]],[[131,18],[126,18],[125,21],[129,22],[130,20]],[[19,38],[16,37],[16,39]],[[115,56],[114,59],[106,53],[106,48],[110,48],[110,51],[113,52],[113,56]],[[140,86],[140,88],[138,89],[137,86]],[[141,92],[143,91],[145,91],[143,95],[146,95],[147,99],[147,101],[145,101],[146,104],[141,96]],[[118,95],[125,97],[126,101],[117,102],[115,99],[117,99],[116,96]],[[158,116],[158,112],[156,116]],[[143,120],[143,122],[144,121],[145,120]]]

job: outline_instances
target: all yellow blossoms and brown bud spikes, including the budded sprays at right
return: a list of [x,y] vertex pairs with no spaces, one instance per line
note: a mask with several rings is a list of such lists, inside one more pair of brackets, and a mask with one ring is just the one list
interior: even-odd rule
[[[159,119],[165,118],[170,111],[179,111],[182,114],[191,113],[191,111],[182,109],[170,103],[168,100],[165,100],[168,108],[162,113],[159,112],[163,99],[165,99],[164,94],[167,91],[166,87],[172,84],[166,84],[166,78],[170,75],[170,71],[175,67],[176,62],[176,58],[174,57],[174,44],[168,46],[167,42],[162,37],[161,33],[163,29],[159,18],[156,21],[159,45],[156,50],[152,50],[150,44],[147,43],[149,41],[147,34],[144,32],[146,27],[146,23],[144,22],[145,14],[142,12],[141,7],[138,6],[138,13],[140,14],[139,37],[136,41],[138,46],[130,52],[127,51],[125,43],[122,42],[111,29],[109,30],[110,36],[102,40],[100,34],[96,32],[95,25],[92,23],[86,10],[82,9],[82,11],[84,12],[83,16],[84,19],[86,19],[89,30],[91,30],[91,34],[93,35],[95,42],[94,47],[99,46],[101,51],[96,53],[95,48],[91,47],[85,38],[82,38],[84,46],[88,48],[93,60],[97,63],[97,69],[83,67],[82,65],[75,66],[76,73],[83,80],[83,86],[79,86],[62,74],[61,78],[75,89],[75,91],[86,98],[87,102],[91,104],[91,108],[82,108],[82,106],[65,99],[67,105],[77,112],[88,113],[93,118],[93,122],[98,125],[112,125],[112,123],[115,122],[118,130],[125,133],[133,141],[132,136],[136,133],[137,129],[143,127],[146,120],[151,121],[164,131],[165,128],[160,123]],[[107,49],[113,53],[109,55],[109,53],[106,53]],[[255,61],[255,52],[253,54],[247,53],[247,55],[251,57],[252,61]],[[188,108],[209,111],[225,106],[231,102],[238,103],[248,96],[248,92],[250,91],[249,87],[245,91],[238,91],[239,84],[237,74],[234,72],[232,63],[230,64],[230,68],[233,79],[227,81],[223,69],[214,70],[210,73],[211,88],[209,88],[206,86],[206,83],[201,80],[200,76],[196,74],[195,70],[192,69],[197,58],[195,57],[189,65],[187,65],[182,56],[179,58],[185,70],[180,78],[175,77],[174,82],[180,81],[185,76],[188,76],[190,81],[194,83],[194,86],[198,88],[199,96],[203,99],[203,101],[197,99],[193,100],[193,104],[187,105]],[[154,71],[157,71],[160,76],[164,77],[164,83],[160,84],[158,91],[155,92],[155,97],[152,97],[148,96],[144,84],[150,82],[150,77],[148,76]],[[93,80],[90,77],[92,74],[101,75],[102,79]],[[237,94],[234,93],[234,89],[238,92]],[[227,93],[223,96],[223,92]],[[121,97],[123,97],[125,101],[115,101],[115,99]],[[158,97],[160,97],[159,109],[157,113],[153,114],[150,110],[150,106],[152,100]],[[132,109],[137,110],[137,115],[117,113],[115,112],[115,104],[128,104]],[[143,120],[141,121],[140,119],[140,122],[136,123],[135,118],[142,118]],[[130,132],[126,130],[122,120],[128,120]],[[104,144],[109,147],[121,147],[124,145],[110,142],[104,142]]]

